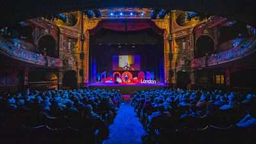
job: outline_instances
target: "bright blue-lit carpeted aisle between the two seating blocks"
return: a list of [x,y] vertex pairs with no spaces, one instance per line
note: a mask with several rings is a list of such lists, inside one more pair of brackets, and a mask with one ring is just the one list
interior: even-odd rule
[[134,109],[128,103],[120,106],[113,125],[109,127],[109,139],[103,144],[141,144],[141,136],[144,134]]

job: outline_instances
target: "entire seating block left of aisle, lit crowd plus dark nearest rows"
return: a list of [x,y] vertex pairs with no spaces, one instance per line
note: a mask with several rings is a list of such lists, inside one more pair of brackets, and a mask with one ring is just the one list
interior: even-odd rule
[[122,102],[119,92],[101,89],[0,98],[0,143],[24,144],[102,143]]

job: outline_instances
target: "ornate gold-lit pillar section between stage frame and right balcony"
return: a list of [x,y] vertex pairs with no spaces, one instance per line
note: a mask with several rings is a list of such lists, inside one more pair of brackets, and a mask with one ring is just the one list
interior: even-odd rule
[[170,21],[170,45],[172,47],[172,61],[171,68],[173,70],[172,85],[177,84],[177,72],[184,70],[189,73],[192,86],[195,84],[195,72],[191,68],[191,60],[194,58],[194,24],[188,26],[180,26],[177,24],[177,17],[180,12],[173,10],[171,12]]

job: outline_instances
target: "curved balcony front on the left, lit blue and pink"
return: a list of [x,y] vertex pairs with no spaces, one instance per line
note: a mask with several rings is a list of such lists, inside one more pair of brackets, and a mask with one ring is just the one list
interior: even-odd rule
[[26,61],[36,65],[42,65],[45,67],[62,67],[61,60],[58,58],[51,58],[49,56],[43,56],[42,54],[27,51],[4,38],[0,38],[0,52],[17,60]]

